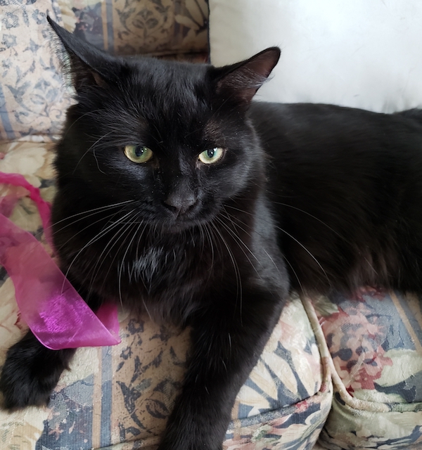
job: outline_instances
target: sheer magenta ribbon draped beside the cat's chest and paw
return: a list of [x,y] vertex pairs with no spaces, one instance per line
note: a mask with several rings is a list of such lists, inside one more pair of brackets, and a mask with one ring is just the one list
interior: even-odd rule
[[[44,233],[51,244],[50,205],[39,189],[20,174],[0,172],[0,183],[23,186],[37,203]],[[94,314],[53,259],[31,233],[0,214],[0,264],[15,285],[20,313],[35,337],[49,349],[119,344],[115,304]]]

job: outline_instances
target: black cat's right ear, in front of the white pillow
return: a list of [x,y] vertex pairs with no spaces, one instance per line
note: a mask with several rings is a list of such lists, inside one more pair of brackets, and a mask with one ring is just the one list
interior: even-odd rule
[[211,76],[217,95],[250,103],[279,62],[280,54],[279,47],[270,47],[241,63],[215,68]]

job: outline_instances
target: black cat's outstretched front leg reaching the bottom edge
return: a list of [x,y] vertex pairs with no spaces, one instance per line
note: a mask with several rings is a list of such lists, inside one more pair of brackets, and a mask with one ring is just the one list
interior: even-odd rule
[[182,392],[158,450],[221,450],[236,395],[257,363],[283,305],[280,293],[214,293],[193,323]]

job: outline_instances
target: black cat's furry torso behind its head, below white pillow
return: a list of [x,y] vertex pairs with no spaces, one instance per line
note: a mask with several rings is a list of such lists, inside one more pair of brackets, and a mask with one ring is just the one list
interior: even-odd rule
[[293,285],[422,292],[422,112],[254,103],[250,118]]

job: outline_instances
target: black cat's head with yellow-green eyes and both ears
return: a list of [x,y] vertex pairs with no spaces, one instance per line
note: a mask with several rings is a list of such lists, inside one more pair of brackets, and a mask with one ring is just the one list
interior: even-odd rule
[[120,58],[50,23],[77,101],[58,146],[59,189],[136,202],[143,221],[183,229],[255,182],[263,155],[247,111],[279,49],[223,68]]

